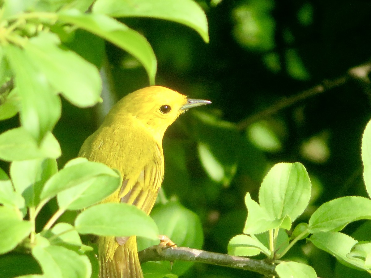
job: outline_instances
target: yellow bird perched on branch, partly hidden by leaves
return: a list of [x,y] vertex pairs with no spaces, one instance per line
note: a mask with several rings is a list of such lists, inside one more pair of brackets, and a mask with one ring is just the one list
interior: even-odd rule
[[[121,188],[103,202],[129,203],[149,214],[164,178],[165,130],[185,110],[208,103],[161,86],[137,90],[116,103],[79,153],[121,172]],[[100,237],[98,259],[100,278],[143,277],[135,236]]]

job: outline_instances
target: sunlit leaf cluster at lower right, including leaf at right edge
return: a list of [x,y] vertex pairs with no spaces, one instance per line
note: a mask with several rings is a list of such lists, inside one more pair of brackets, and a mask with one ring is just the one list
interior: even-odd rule
[[[362,139],[364,182],[369,197],[370,132],[371,121]],[[228,253],[247,257],[262,253],[269,261],[278,264],[276,272],[281,278],[315,278],[317,274],[311,266],[281,261],[296,242],[306,239],[342,264],[371,273],[371,243],[357,241],[340,232],[353,221],[371,219],[371,200],[345,196],[325,202],[313,212],[308,223],[302,222],[292,227],[295,219],[306,210],[310,197],[311,181],[301,163],[278,163],[273,166],[260,186],[259,203],[251,199],[249,193],[246,194],[248,215],[243,234],[229,241]]]

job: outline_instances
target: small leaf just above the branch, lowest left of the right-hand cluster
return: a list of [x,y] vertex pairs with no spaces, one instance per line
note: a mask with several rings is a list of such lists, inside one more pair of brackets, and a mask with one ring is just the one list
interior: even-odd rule
[[264,244],[249,235],[236,235],[228,244],[229,255],[250,257],[259,255],[260,252],[267,256],[270,254],[269,249]]

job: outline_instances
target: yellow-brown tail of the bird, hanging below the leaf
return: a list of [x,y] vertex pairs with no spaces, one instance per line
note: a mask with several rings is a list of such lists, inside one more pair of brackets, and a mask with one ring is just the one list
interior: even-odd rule
[[98,239],[99,278],[143,278],[135,236],[119,245],[116,239]]

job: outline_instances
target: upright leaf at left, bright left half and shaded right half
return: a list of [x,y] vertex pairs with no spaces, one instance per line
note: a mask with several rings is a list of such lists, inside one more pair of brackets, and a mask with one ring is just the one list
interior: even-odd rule
[[36,206],[39,203],[45,182],[57,171],[55,159],[23,160],[10,164],[14,188],[23,195],[27,206]]

